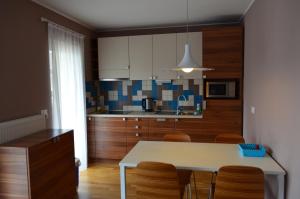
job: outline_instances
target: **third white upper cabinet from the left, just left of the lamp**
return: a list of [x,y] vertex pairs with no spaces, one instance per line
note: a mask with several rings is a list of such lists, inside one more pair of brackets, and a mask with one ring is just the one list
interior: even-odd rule
[[153,35],[153,76],[158,80],[176,79],[176,33]]

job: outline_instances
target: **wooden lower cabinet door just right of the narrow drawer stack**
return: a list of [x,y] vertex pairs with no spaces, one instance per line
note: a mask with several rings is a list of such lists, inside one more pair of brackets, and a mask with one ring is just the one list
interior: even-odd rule
[[175,132],[175,119],[151,118],[149,119],[149,140],[162,141],[165,134]]

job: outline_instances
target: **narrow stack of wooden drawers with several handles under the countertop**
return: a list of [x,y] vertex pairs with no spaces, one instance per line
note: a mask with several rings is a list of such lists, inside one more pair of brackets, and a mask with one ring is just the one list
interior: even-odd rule
[[149,120],[145,118],[128,118],[126,126],[126,149],[129,152],[141,140],[148,140]]

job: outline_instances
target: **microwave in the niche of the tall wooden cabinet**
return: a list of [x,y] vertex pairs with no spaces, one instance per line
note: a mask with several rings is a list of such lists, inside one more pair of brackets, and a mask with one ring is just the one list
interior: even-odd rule
[[236,99],[238,98],[237,79],[205,79],[204,97],[206,99]]

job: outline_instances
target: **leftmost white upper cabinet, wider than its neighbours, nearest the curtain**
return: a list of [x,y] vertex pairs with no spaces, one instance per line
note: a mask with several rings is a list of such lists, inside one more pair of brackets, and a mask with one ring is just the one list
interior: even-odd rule
[[129,37],[98,39],[99,78],[129,78]]

